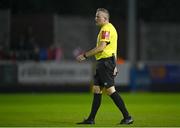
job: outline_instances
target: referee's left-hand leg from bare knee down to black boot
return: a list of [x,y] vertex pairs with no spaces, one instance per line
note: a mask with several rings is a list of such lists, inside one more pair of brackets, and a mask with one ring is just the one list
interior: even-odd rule
[[89,117],[84,120],[83,122],[80,122],[78,124],[94,124],[94,119],[96,116],[96,113],[101,105],[101,97],[102,97],[102,88],[100,86],[93,86],[93,101],[92,101],[92,107],[91,107],[91,112],[89,114]]

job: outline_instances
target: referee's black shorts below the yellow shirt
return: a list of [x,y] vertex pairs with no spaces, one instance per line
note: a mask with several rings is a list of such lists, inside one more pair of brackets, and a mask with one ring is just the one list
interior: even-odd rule
[[97,61],[94,75],[94,85],[109,88],[114,86],[114,68],[116,67],[114,57],[103,58]]

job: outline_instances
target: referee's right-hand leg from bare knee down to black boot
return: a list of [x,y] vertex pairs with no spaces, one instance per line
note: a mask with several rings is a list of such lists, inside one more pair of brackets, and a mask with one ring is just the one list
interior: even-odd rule
[[106,89],[108,95],[111,97],[111,99],[114,101],[116,106],[119,108],[119,110],[122,112],[124,119],[121,121],[121,124],[131,124],[133,123],[133,120],[131,116],[129,115],[126,106],[124,104],[123,99],[119,95],[119,93],[115,90],[115,87],[112,86],[110,88]]

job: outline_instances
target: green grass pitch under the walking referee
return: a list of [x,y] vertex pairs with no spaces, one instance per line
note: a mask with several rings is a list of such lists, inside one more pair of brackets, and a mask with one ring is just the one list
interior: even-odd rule
[[[135,122],[130,127],[180,126],[180,94],[122,93]],[[91,93],[0,94],[0,127],[85,127],[76,125],[87,117]],[[118,125],[122,115],[103,94],[95,127]]]

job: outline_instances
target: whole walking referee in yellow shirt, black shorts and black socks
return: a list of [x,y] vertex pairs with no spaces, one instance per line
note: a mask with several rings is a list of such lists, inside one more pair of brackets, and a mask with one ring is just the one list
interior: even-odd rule
[[129,115],[123,99],[116,91],[114,86],[114,77],[116,69],[117,53],[117,32],[114,26],[109,22],[109,12],[104,8],[98,8],[95,17],[96,25],[100,27],[95,48],[79,55],[76,59],[81,62],[90,56],[95,56],[97,60],[96,74],[94,75],[91,113],[87,119],[77,124],[95,124],[95,116],[101,105],[102,89],[105,88],[107,94],[112,98],[116,106],[123,114],[120,124],[132,124],[133,119]]

